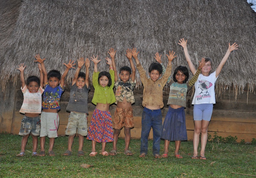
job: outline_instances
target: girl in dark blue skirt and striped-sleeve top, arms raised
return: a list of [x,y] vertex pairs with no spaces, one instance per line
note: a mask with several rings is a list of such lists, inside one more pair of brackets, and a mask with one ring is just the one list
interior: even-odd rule
[[[162,67],[163,74],[165,73],[164,65],[161,59],[157,59]],[[175,141],[175,151],[174,156],[176,158],[183,158],[179,154],[181,140],[187,140],[187,129],[186,129],[186,118],[185,118],[185,110],[186,107],[186,96],[188,90],[194,85],[196,82],[202,67],[204,66],[204,59],[202,62],[199,61],[199,66],[196,70],[196,74],[192,77],[192,79],[188,81],[189,73],[188,68],[184,66],[178,66],[171,80],[171,76],[168,78],[167,82],[170,86],[170,94],[167,105],[169,105],[169,110],[165,116],[161,139],[164,139],[164,153],[162,154],[163,158],[168,157],[168,148],[170,145],[170,141]]]

